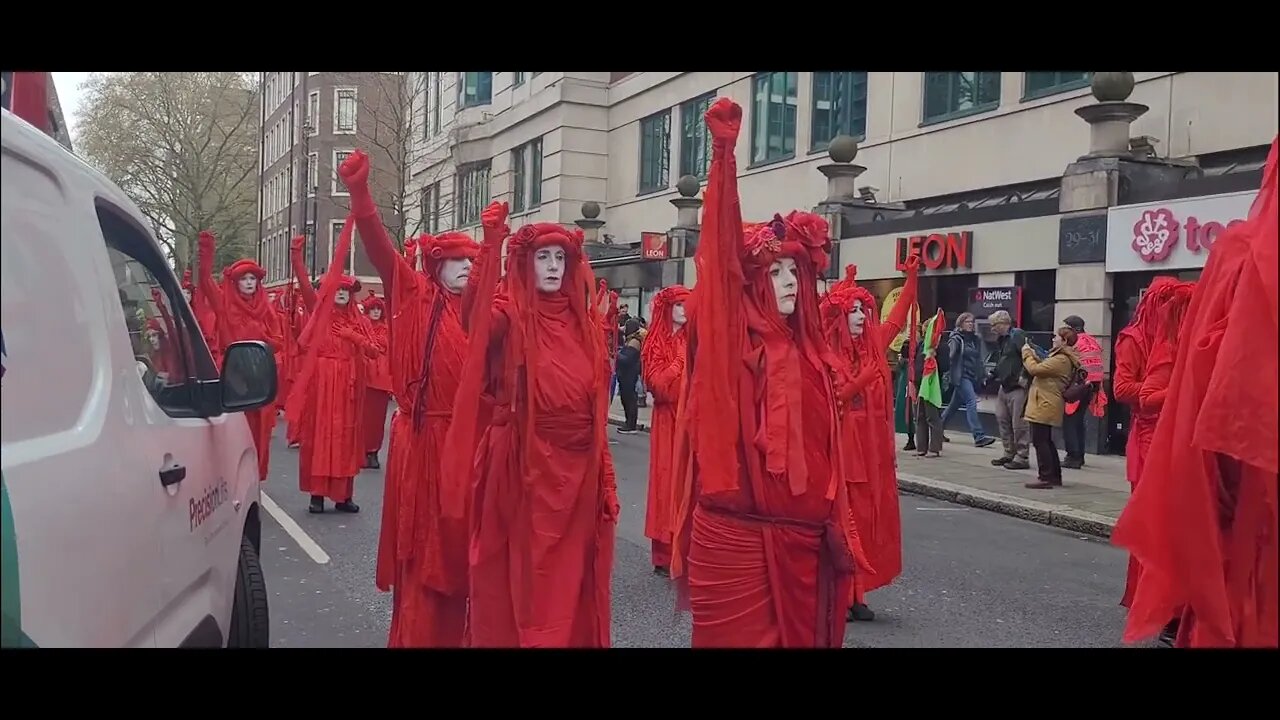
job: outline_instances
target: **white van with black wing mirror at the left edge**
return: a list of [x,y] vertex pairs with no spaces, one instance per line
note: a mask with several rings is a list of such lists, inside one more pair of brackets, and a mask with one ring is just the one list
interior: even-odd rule
[[137,206],[3,115],[5,647],[266,647],[260,342],[221,375]]

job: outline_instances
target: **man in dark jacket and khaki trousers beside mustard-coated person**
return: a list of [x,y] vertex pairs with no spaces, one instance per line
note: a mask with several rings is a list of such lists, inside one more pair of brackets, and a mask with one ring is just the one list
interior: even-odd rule
[[996,333],[996,368],[988,380],[1000,384],[996,396],[996,421],[1000,424],[1000,442],[1005,452],[991,461],[997,468],[1025,470],[1030,468],[1030,427],[1027,424],[1027,388],[1030,378],[1023,366],[1021,348],[1027,333],[1014,327],[1007,310],[996,310],[987,322]]

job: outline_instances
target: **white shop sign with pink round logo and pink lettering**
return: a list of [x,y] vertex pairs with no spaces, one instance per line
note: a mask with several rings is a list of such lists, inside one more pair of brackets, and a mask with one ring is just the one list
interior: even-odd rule
[[1203,268],[1217,236],[1249,217],[1257,191],[1123,205],[1107,211],[1107,272]]

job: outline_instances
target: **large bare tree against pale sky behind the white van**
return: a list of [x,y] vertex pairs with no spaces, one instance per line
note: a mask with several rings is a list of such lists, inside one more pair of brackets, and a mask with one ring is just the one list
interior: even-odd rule
[[93,73],[78,151],[151,220],[174,268],[219,236],[219,266],[257,243],[257,87],[252,73]]

